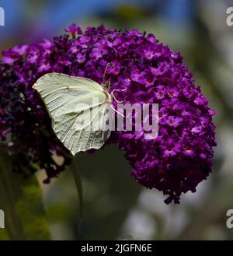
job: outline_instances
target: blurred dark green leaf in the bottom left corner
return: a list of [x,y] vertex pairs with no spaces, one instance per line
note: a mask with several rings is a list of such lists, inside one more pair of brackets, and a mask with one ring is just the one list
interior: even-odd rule
[[12,171],[12,158],[0,150],[0,209],[5,229],[0,240],[50,240],[50,226],[43,208],[37,178]]

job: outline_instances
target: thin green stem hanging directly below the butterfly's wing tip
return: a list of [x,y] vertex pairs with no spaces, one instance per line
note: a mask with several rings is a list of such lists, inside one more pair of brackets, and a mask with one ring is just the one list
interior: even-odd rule
[[73,157],[72,163],[71,163],[71,172],[75,179],[75,185],[77,188],[78,193],[78,202],[79,202],[79,217],[82,217],[82,210],[83,210],[83,194],[82,194],[82,181],[78,174],[78,164],[76,162],[77,160],[75,157]]

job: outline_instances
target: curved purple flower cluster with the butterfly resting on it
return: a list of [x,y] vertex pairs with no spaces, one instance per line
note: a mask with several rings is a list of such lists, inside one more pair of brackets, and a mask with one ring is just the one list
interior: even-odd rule
[[[51,130],[50,118],[33,83],[47,72],[61,72],[103,82],[107,70],[111,90],[119,89],[123,103],[158,103],[158,138],[145,140],[144,132],[112,132],[108,142],[126,151],[135,180],[157,188],[179,203],[187,191],[211,172],[214,139],[214,110],[194,86],[193,75],[180,54],[161,44],[152,34],[137,30],[107,30],[88,27],[82,32],[72,25],[71,33],[20,45],[2,52],[0,63],[0,139],[23,167],[47,170],[47,181],[69,163],[71,156]],[[114,102],[113,104],[116,104]],[[53,152],[64,157],[54,163]],[[19,166],[19,164],[18,164]]]

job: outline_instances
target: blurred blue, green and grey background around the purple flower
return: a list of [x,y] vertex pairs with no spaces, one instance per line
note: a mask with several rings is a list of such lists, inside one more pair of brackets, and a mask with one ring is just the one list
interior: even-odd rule
[[[54,240],[231,240],[226,212],[233,209],[233,26],[227,0],[1,0],[5,26],[0,50],[63,33],[71,23],[114,29],[137,28],[180,51],[210,107],[217,110],[213,174],[165,205],[161,192],[147,190],[130,176],[117,147],[78,156],[83,214],[69,171],[49,185],[43,198]],[[43,170],[37,174],[43,181]]]

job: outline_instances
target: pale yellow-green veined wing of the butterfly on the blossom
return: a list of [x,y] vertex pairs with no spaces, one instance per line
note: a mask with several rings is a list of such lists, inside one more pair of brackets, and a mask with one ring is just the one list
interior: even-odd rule
[[47,107],[57,138],[73,155],[99,149],[106,129],[106,93],[90,79],[58,73],[43,75],[33,86]]

